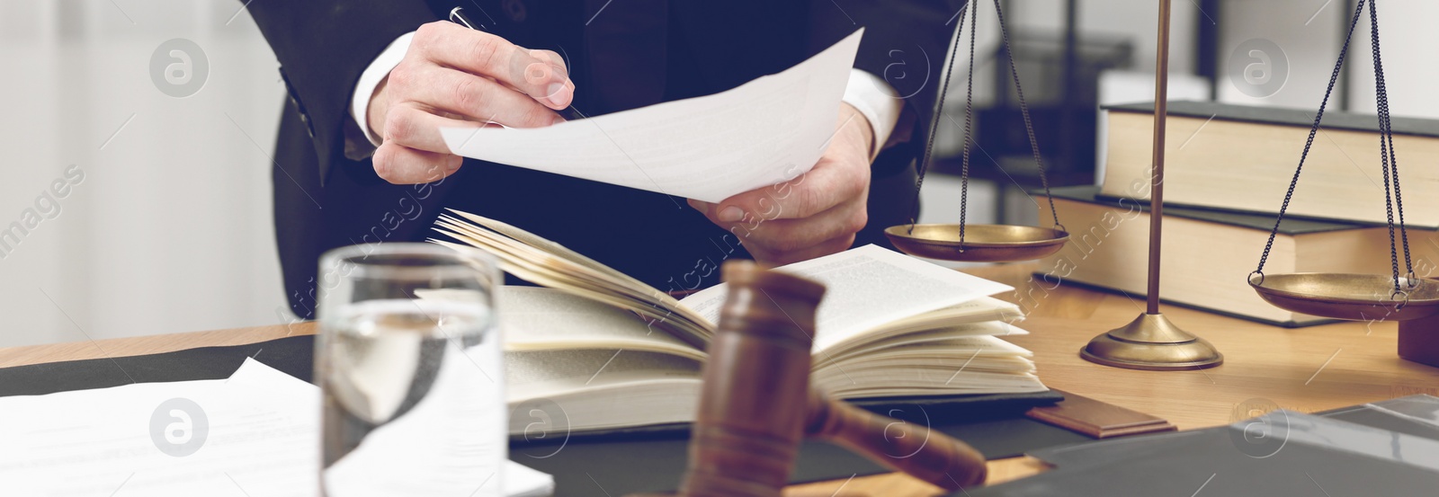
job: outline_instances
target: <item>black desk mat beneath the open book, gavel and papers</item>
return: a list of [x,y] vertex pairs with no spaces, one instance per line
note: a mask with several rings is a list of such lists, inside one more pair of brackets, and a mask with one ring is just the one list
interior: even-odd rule
[[[0,396],[43,395],[131,382],[222,379],[239,369],[248,356],[314,384],[314,338],[291,336],[250,345],[0,368]],[[1046,392],[971,396],[948,402],[885,399],[862,402],[862,407],[881,414],[904,412],[909,422],[928,422],[993,460],[1091,440],[1023,417],[1027,407],[1061,399],[1059,394]],[[606,493],[620,496],[678,487],[688,454],[688,434],[684,427],[623,434],[574,434],[547,442],[514,441],[509,450],[511,460],[553,474],[557,497]],[[840,447],[807,441],[800,447],[790,481],[849,478],[886,471]]]

